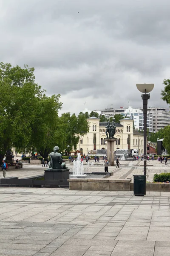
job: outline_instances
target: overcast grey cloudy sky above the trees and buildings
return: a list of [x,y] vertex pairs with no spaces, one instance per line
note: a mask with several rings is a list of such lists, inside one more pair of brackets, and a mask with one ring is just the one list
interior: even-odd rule
[[169,0],[0,0],[0,61],[35,67],[62,112],[142,107],[136,83],[170,78]]

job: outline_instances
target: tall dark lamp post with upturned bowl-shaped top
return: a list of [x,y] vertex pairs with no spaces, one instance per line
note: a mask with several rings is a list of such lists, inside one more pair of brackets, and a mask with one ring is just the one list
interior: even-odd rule
[[147,100],[150,99],[150,92],[154,84],[136,84],[137,89],[143,93],[143,113],[144,113],[144,175],[146,175],[146,155],[147,155]]

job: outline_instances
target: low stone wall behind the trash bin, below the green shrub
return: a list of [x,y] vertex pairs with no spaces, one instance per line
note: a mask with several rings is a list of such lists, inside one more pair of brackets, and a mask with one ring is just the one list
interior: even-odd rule
[[[133,183],[130,183],[130,191],[133,191]],[[146,183],[146,191],[170,192],[170,184]]]

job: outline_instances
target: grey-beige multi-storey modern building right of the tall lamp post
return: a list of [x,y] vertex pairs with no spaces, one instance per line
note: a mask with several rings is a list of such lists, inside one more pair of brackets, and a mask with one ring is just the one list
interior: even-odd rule
[[147,113],[153,115],[153,132],[159,131],[167,125],[170,125],[169,108],[148,108]]

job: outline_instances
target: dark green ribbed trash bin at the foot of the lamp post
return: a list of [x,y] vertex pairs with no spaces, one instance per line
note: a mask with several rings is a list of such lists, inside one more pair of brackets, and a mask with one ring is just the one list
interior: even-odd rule
[[133,194],[146,195],[146,175],[133,175]]

